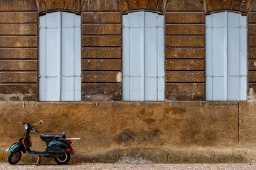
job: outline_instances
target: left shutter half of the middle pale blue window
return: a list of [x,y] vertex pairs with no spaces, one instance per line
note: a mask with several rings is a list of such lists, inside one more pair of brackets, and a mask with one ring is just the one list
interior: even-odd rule
[[123,100],[144,100],[144,12],[123,15]]

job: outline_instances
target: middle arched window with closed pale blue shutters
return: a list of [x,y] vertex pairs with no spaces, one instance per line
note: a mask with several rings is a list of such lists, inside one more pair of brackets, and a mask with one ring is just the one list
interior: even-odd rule
[[123,15],[123,101],[164,101],[164,16]]

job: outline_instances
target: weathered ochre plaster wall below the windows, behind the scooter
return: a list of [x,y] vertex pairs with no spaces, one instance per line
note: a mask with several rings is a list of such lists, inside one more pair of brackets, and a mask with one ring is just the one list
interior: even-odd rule
[[[23,108],[22,102],[2,102],[0,148],[23,135],[18,121],[43,120],[36,126],[42,133],[65,130],[68,137],[82,138],[73,147],[73,162],[122,162],[129,157],[149,162],[253,162],[255,107],[249,102],[28,102]],[[45,147],[39,135],[31,137],[32,149]],[[6,161],[6,153],[1,153],[0,160]]]

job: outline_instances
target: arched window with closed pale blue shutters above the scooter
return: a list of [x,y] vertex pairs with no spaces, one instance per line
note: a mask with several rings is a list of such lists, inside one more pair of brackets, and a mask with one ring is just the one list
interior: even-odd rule
[[39,100],[80,101],[80,16],[53,12],[39,19]]

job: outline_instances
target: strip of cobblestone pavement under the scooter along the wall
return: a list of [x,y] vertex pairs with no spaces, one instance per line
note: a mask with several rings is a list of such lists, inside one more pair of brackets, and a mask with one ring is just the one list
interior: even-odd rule
[[16,164],[0,163],[0,169],[92,169],[92,170],[112,170],[112,169],[256,169],[256,164]]

